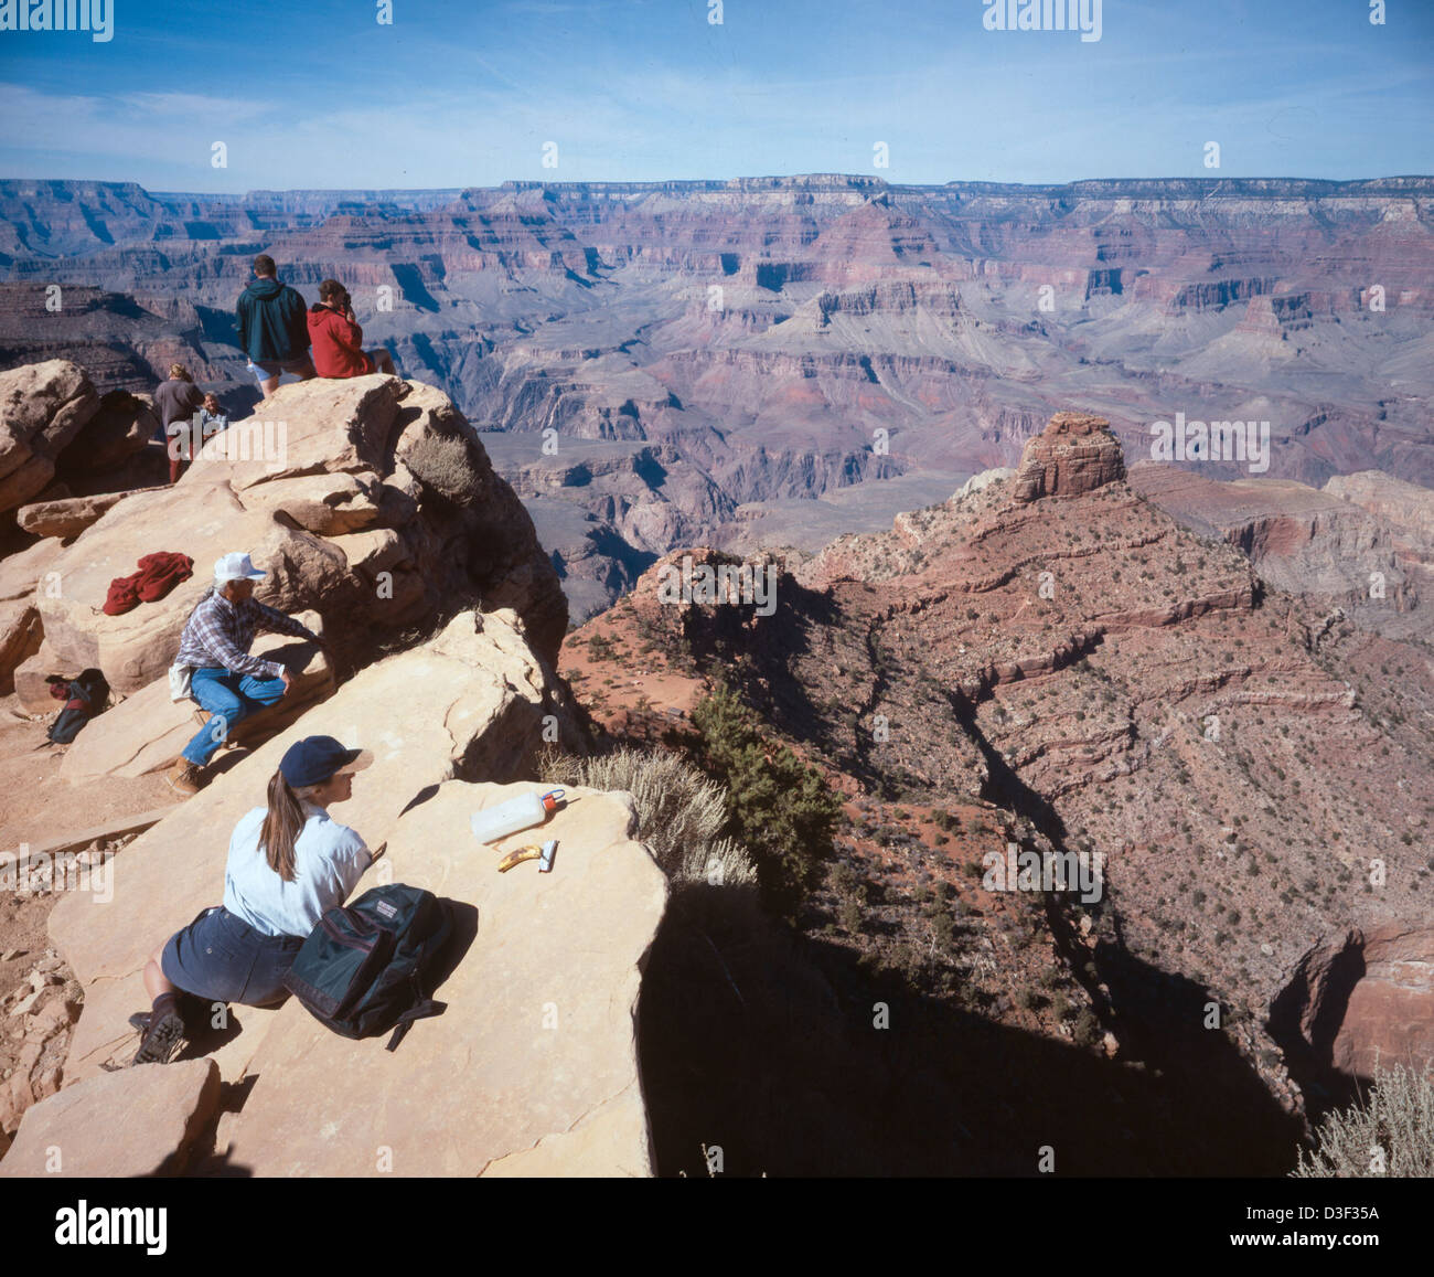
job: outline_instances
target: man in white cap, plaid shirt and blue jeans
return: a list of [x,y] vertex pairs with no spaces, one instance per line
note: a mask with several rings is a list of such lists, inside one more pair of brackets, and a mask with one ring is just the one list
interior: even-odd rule
[[250,656],[257,630],[311,638],[328,644],[293,617],[254,598],[258,571],[247,554],[225,554],[214,565],[214,585],[195,604],[179,636],[175,664],[189,666],[189,694],[209,712],[209,720],[195,733],[168,775],[179,793],[198,793],[204,769],[234,725],[247,715],[275,705],[294,679],[277,660]]

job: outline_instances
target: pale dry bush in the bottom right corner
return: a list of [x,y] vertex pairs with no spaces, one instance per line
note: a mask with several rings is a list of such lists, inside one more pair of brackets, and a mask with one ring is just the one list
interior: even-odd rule
[[1315,1148],[1301,1149],[1289,1172],[1296,1179],[1428,1178],[1434,1175],[1434,1080],[1427,1070],[1382,1068],[1375,1060],[1368,1095],[1329,1113],[1315,1135]]

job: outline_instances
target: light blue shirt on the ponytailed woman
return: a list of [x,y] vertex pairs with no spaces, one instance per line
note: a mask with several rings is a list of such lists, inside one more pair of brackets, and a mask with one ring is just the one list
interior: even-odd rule
[[294,881],[285,882],[260,849],[267,811],[257,806],[234,826],[224,907],[265,936],[307,936],[326,911],[348,898],[371,857],[353,829],[305,802],[307,819],[294,839]]

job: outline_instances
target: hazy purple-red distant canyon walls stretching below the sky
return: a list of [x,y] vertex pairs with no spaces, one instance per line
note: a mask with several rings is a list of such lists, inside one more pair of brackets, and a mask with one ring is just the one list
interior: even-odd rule
[[310,301],[343,280],[366,343],[483,433],[576,623],[684,545],[815,552],[882,529],[1015,465],[1057,410],[1108,420],[1131,463],[1430,486],[1431,194],[1424,176],[7,179],[0,367],[75,359],[100,392],[145,392],[182,362],[242,416],[252,255]]

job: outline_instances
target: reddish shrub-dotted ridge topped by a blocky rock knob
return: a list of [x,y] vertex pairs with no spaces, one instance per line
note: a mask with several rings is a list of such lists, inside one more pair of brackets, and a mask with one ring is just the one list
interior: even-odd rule
[[[1375,1053],[1434,1057],[1428,604],[1365,591],[1368,620],[1331,616],[1338,591],[1302,550],[1328,532],[1296,514],[1296,498],[1329,509],[1326,528],[1362,527],[1377,548],[1395,534],[1374,511],[1398,512],[1412,561],[1428,494],[1375,499],[1365,479],[1355,506],[1213,484],[1243,506],[1197,506],[1189,478],[1127,478],[1104,420],[1055,413],[1018,468],[891,531],[747,555],[753,577],[780,570],[770,616],[663,603],[684,558],[736,564],[693,550],[569,634],[559,667],[599,729],[690,740],[690,707],[720,676],[767,725],[769,758],[790,745],[845,798],[799,913],[800,966],[776,946],[737,958],[750,950],[728,938],[749,1027],[736,1006],[720,1029],[681,1019],[747,1035],[724,1055],[730,1090],[684,1129],[721,1113],[769,1169],[1028,1174],[1008,1141],[1060,1131],[1086,1174],[1282,1174],[1304,1123]],[[1282,511],[1301,537],[1245,535]],[[1362,570],[1347,564],[1342,588]],[[641,663],[604,679],[599,651]],[[1098,864],[1100,890],[1080,872],[1070,891],[994,890],[1012,857]],[[760,963],[807,989],[800,1009]],[[886,997],[921,1042],[901,1065],[822,1010]],[[695,1085],[711,1062],[668,1068]],[[1091,1099],[1087,1128],[1053,1076],[1119,1099]],[[878,1132],[856,1115],[872,1088],[922,1102],[891,1098]],[[931,1129],[936,1112],[959,1112],[965,1134]],[[826,1134],[803,1155],[766,1123]]]

